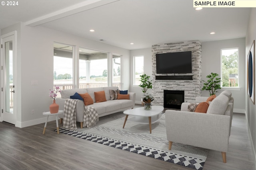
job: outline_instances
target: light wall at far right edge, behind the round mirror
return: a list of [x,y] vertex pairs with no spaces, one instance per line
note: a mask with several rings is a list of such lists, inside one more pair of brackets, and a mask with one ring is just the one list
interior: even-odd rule
[[[245,52],[245,69],[247,70],[247,55],[250,51],[253,40],[256,40],[256,8],[251,8],[250,19],[246,34],[246,52]],[[254,49],[254,52],[256,49]],[[255,59],[255,58],[254,58]],[[254,60],[255,62],[255,60]],[[256,74],[256,69],[254,69],[254,75]],[[247,78],[247,72],[245,72],[245,77]],[[247,81],[247,80],[246,80]],[[255,86],[254,80],[254,86]],[[247,84],[246,84],[247,87]],[[256,86],[255,86],[256,87]],[[255,88],[254,88],[255,89]],[[256,98],[255,98],[256,99]],[[247,95],[247,89],[245,90],[245,107],[246,107],[246,119],[248,121],[248,126],[250,130],[250,135],[252,139],[252,146],[254,147],[254,155],[256,152],[256,102],[252,103],[250,97]]]

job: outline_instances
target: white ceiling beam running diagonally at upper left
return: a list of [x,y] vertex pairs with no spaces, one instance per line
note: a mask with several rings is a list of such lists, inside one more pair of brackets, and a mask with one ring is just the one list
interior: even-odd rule
[[62,10],[58,10],[56,12],[47,14],[45,16],[41,16],[41,17],[35,18],[33,20],[26,21],[25,24],[28,26],[31,26],[31,27],[38,26],[38,25],[41,25],[41,24],[44,24],[44,23],[47,23],[50,21],[58,20],[60,18],[64,18],[64,17],[70,16],[73,14],[77,14],[79,12],[97,8],[99,6],[110,4],[110,3],[116,2],[116,1],[119,1],[119,0],[86,0],[79,4],[70,6],[68,8],[64,8]]

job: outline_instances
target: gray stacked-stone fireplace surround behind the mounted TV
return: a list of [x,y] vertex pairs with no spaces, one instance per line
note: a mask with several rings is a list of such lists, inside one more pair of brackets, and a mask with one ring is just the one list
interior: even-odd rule
[[[156,76],[174,75],[156,74],[156,54],[179,51],[192,51],[192,74],[175,75],[193,75],[193,80],[156,80]],[[202,80],[201,53],[201,42],[198,40],[152,45],[152,94],[155,98],[153,104],[164,105],[164,90],[184,90],[185,102],[200,96]]]

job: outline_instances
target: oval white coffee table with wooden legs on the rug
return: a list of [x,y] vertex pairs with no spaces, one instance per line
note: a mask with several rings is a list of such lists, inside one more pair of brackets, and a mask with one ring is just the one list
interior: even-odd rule
[[128,115],[133,115],[133,117],[129,118],[129,121],[134,121],[140,124],[149,124],[149,130],[151,133],[151,123],[155,123],[162,117],[161,113],[163,110],[163,106],[152,106],[152,109],[150,110],[145,110],[144,107],[126,110],[124,111],[126,117],[124,120],[123,128],[127,121]]

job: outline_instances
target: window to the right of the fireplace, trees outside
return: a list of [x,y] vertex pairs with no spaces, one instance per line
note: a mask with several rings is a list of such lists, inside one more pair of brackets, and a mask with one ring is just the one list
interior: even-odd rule
[[221,86],[239,87],[238,48],[221,49]]

